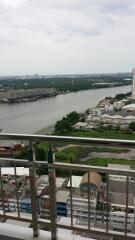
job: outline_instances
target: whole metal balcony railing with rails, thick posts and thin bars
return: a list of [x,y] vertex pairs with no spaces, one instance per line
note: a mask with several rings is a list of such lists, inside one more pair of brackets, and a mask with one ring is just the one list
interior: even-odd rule
[[[15,186],[16,186],[16,197],[17,197],[17,211],[18,215],[16,216],[17,220],[24,220],[20,217],[20,210],[19,210],[19,198],[18,198],[18,182],[17,182],[17,166],[23,165],[24,167],[29,167],[29,175],[30,175],[30,191],[31,191],[31,209],[32,209],[32,219],[30,222],[32,223],[33,227],[33,236],[38,236],[38,224],[42,220],[38,219],[38,206],[37,206],[37,189],[36,189],[36,167],[40,165],[44,165],[48,168],[48,178],[49,178],[49,204],[50,204],[50,231],[51,231],[51,239],[57,239],[57,228],[64,228],[67,230],[72,231],[84,231],[85,233],[94,233],[94,234],[103,234],[105,236],[118,236],[118,239],[133,239],[134,235],[128,234],[128,198],[129,198],[129,184],[130,184],[130,177],[135,178],[135,170],[133,169],[119,169],[113,167],[100,167],[100,166],[88,166],[88,165],[81,165],[81,164],[71,164],[71,163],[61,163],[61,162],[54,162],[54,155],[52,152],[51,144],[55,142],[65,142],[65,143],[73,143],[74,145],[79,144],[87,144],[87,147],[90,146],[106,146],[106,147],[121,147],[121,148],[134,148],[135,149],[135,140],[117,140],[117,139],[104,139],[104,138],[83,138],[83,137],[65,137],[65,136],[53,136],[53,135],[31,135],[31,134],[10,134],[10,133],[1,133],[0,134],[1,140],[20,140],[20,141],[28,141],[29,146],[29,159],[12,159],[12,158],[0,158],[0,176],[2,176],[1,168],[3,166],[12,166],[14,165],[14,174],[15,174]],[[35,152],[35,143],[37,142],[45,142],[49,143],[49,151],[48,151],[48,162],[46,161],[37,161],[36,160],[36,152]],[[2,165],[4,163],[4,165]],[[66,169],[68,171],[68,178],[70,180],[70,199],[71,199],[71,225],[61,225],[56,222],[56,173],[57,169]],[[105,229],[102,232],[102,229],[98,229],[97,227],[92,228],[90,223],[90,199],[91,193],[90,188],[88,188],[88,228],[80,228],[77,227],[73,222],[73,208],[72,208],[72,174],[76,172],[87,172],[88,173],[88,183],[90,183],[90,173],[97,172],[97,173],[104,173],[106,174],[106,223]],[[125,203],[125,227],[124,227],[124,235],[121,235],[119,232],[113,232],[109,229],[109,174],[114,175],[122,175],[126,176],[125,179],[125,186],[126,189],[126,203]],[[1,190],[3,193],[3,183],[1,181]],[[4,195],[2,195],[2,206],[3,206],[3,214],[0,214],[2,217],[8,217],[5,214],[5,206],[4,206]],[[14,217],[14,216],[13,216]],[[12,218],[12,216],[9,216]],[[15,219],[15,217],[14,217]],[[27,219],[26,219],[27,221]],[[46,224],[46,222],[45,222]]]

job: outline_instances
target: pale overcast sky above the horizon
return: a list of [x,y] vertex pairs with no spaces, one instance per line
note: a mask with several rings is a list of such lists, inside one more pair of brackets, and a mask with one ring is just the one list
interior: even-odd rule
[[134,65],[135,0],[0,0],[0,75]]

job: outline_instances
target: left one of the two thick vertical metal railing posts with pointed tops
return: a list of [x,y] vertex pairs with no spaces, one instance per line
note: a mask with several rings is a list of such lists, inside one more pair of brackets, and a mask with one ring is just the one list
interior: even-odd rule
[[35,149],[32,147],[30,142],[29,148],[29,160],[31,161],[31,166],[29,168],[30,173],[30,192],[31,192],[31,210],[32,210],[32,228],[33,237],[38,237],[38,209],[37,209],[37,191],[36,191],[36,167],[34,164],[35,160]]

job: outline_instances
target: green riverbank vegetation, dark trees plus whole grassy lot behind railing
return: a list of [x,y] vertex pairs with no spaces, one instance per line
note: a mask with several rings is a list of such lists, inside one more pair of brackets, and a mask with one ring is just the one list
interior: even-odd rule
[[[53,134],[59,136],[91,137],[91,138],[108,138],[108,139],[127,139],[135,140],[135,133],[131,130],[118,131],[114,129],[93,129],[77,130],[72,126],[79,121],[80,115],[76,112],[69,113],[62,120],[58,121],[55,126],[42,129],[38,134]],[[107,167],[108,164],[126,164],[135,167],[135,151],[132,149],[121,149],[117,147],[99,147],[90,145],[73,145],[67,143],[53,143],[52,148],[55,152],[55,158],[58,162],[76,163],[92,166]],[[36,144],[36,159],[47,161],[48,143]],[[28,158],[28,148],[24,149],[20,158]],[[45,173],[45,169],[40,169],[39,173]],[[61,175],[63,170],[59,171]]]

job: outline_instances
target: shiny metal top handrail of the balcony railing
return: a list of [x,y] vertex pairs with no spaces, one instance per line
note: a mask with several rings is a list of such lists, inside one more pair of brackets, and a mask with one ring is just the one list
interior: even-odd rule
[[132,147],[135,148],[135,140],[108,139],[108,138],[89,138],[89,137],[68,137],[55,135],[38,135],[38,134],[14,134],[0,133],[0,140],[22,140],[31,142],[68,142],[76,144],[91,144],[110,147]]

